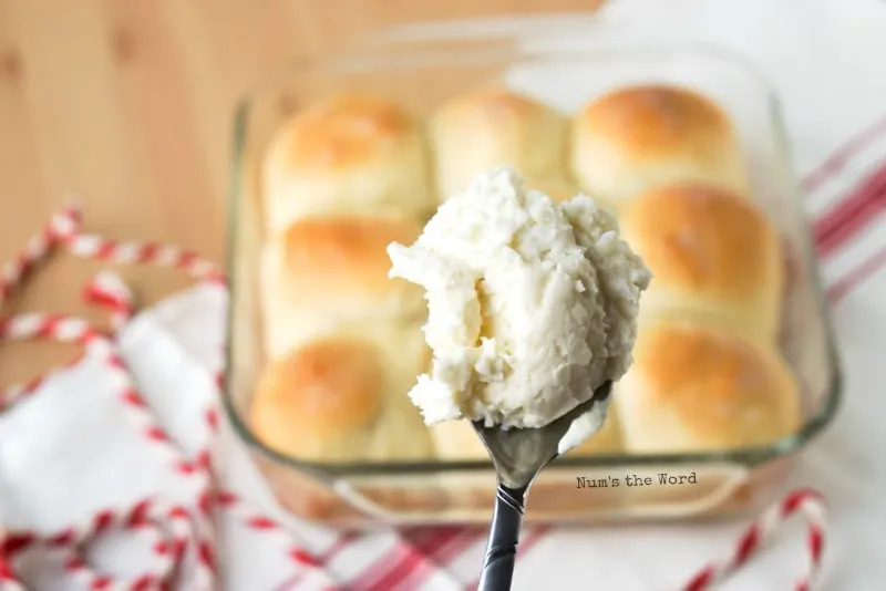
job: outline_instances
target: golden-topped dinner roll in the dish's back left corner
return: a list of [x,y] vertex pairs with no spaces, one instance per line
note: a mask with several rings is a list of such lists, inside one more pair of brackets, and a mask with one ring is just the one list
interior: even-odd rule
[[296,114],[271,139],[262,184],[271,232],[313,214],[434,207],[421,121],[369,95],[334,96]]

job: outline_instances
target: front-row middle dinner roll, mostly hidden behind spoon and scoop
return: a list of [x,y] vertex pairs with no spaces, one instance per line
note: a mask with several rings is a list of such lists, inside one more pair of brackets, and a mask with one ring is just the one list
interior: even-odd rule
[[[617,454],[621,450],[621,435],[616,416],[617,406],[609,404],[609,413],[600,431],[585,439],[578,447],[570,449],[569,457]],[[474,432],[468,421],[444,421],[430,426],[431,439],[436,456],[441,460],[459,462],[488,459],[486,448]]]

